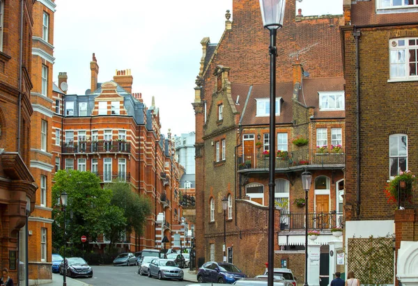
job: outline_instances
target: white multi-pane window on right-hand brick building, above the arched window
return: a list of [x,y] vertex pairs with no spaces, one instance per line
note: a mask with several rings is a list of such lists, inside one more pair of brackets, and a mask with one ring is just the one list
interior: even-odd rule
[[389,58],[390,79],[418,80],[418,38],[390,40]]

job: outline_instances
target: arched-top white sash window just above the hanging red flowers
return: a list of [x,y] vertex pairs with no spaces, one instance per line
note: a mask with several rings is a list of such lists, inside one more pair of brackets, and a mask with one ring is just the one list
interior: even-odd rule
[[394,177],[400,170],[408,170],[408,136],[394,134],[389,136],[389,176]]

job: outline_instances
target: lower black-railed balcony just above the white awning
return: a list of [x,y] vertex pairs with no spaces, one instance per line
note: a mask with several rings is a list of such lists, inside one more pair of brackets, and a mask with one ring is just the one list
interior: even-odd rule
[[[280,230],[302,230],[305,229],[304,213],[286,213],[280,214]],[[341,227],[343,223],[343,213],[335,211],[329,213],[308,214],[308,229],[312,230],[328,230]]]

